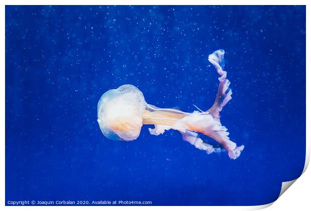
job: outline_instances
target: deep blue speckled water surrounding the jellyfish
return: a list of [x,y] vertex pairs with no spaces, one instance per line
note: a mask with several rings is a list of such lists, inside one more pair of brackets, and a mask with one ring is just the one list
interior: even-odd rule
[[[97,102],[123,84],[149,104],[207,110],[217,49],[238,159],[148,125],[132,142],[102,135]],[[305,60],[304,6],[7,6],[6,201],[272,202],[304,166]]]

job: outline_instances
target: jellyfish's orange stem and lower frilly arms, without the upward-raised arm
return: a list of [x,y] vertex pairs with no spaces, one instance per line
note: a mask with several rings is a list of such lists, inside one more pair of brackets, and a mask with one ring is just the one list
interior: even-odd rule
[[196,148],[205,150],[208,154],[220,152],[221,148],[214,148],[212,145],[204,142],[198,137],[198,133],[203,133],[218,143],[228,151],[231,159],[236,159],[244,146],[237,147],[236,143],[228,137],[227,128],[221,125],[219,119],[215,119],[207,112],[194,113],[176,113],[172,109],[162,109],[162,111],[144,111],[142,115],[142,124],[153,124],[153,129],[149,128],[152,135],[163,134],[166,130],[178,130],[183,140],[191,143]]

